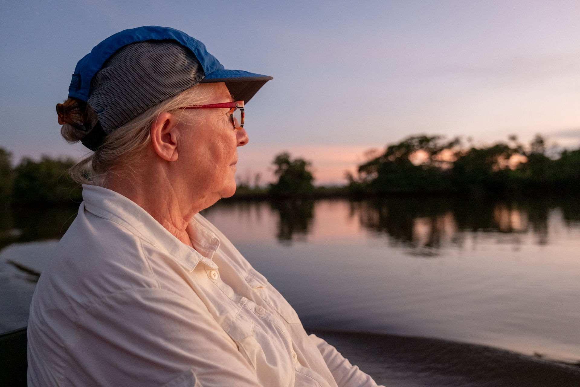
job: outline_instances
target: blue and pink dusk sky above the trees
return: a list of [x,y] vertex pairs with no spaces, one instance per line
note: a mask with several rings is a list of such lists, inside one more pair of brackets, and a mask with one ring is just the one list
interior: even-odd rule
[[81,157],[55,104],[104,38],[144,25],[274,77],[247,106],[241,177],[289,150],[339,182],[364,150],[416,133],[580,143],[577,1],[3,1],[0,146]]

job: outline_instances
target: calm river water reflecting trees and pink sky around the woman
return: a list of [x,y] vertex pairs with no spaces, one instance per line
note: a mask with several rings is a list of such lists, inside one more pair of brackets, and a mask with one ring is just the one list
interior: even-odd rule
[[[466,343],[463,350],[474,343],[576,363],[579,203],[570,196],[222,201],[202,214],[288,299],[307,330],[322,337],[371,332],[386,340],[383,348],[437,342],[441,352],[452,341]],[[57,239],[74,215],[70,208],[42,211],[7,212],[3,244]],[[49,251],[53,243],[34,248],[42,246]],[[4,255],[20,247],[26,245],[11,245]],[[0,262],[0,287],[0,306],[10,310],[0,328],[26,325],[34,276]],[[413,341],[420,338],[447,341]],[[468,385],[389,378],[398,378],[397,385]]]

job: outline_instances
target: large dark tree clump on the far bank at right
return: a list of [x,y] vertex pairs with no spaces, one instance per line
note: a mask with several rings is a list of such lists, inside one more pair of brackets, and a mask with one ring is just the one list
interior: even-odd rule
[[[580,150],[563,151],[553,160],[545,140],[537,135],[525,151],[512,136],[512,145],[464,150],[459,140],[440,136],[411,136],[391,144],[384,154],[347,175],[351,194],[443,193],[524,190],[571,190],[580,187]],[[422,160],[415,160],[415,157]]]

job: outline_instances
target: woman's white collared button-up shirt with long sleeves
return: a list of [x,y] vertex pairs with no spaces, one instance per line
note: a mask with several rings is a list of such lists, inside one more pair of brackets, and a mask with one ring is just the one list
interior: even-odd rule
[[114,191],[83,198],[32,298],[28,386],[376,386],[203,216],[193,249]]

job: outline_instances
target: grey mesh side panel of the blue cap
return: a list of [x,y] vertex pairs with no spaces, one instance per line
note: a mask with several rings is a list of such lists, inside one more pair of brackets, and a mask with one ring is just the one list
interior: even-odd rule
[[87,102],[109,134],[204,77],[193,52],[176,41],[136,42],[107,59],[90,82]]

